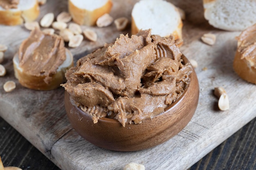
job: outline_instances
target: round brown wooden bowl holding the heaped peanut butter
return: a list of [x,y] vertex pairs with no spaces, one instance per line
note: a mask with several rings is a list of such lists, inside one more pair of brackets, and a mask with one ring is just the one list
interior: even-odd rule
[[[184,63],[189,61],[182,56]],[[179,100],[173,102],[164,113],[141,124],[125,127],[118,120],[100,118],[94,124],[88,113],[70,102],[65,92],[65,109],[73,128],[83,138],[101,148],[117,151],[135,151],[150,148],[166,142],[179,133],[191,120],[198,105],[199,85],[195,71],[190,74],[191,82]]]

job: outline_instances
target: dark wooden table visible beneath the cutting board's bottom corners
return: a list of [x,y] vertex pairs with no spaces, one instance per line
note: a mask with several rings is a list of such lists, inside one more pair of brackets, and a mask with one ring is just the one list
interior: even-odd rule
[[[22,170],[59,170],[2,118],[0,118],[0,156],[4,166],[17,166]],[[256,118],[190,168],[190,170],[220,169],[256,170]]]

